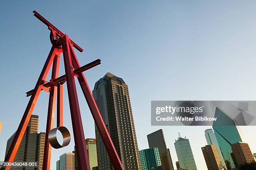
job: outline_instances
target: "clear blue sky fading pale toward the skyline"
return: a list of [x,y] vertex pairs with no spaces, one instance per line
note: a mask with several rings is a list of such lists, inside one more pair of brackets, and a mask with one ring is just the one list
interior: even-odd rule
[[[84,48],[77,57],[84,65],[102,64],[85,72],[90,88],[107,71],[129,86],[139,149],[146,135],[164,129],[173,162],[178,132],[187,136],[198,170],[206,170],[201,147],[209,127],[151,127],[151,100],[256,100],[256,1],[34,1],[0,2],[0,160],[6,141],[18,127],[51,48],[49,30],[33,16],[37,10]],[[61,60],[61,63],[63,61]],[[63,67],[60,74],[64,73]],[[66,86],[65,86],[66,87]],[[64,91],[66,92],[66,91]],[[42,92],[33,114],[45,131],[48,95]],[[94,122],[78,90],[85,137],[95,137]],[[64,125],[71,120],[64,95]],[[256,127],[242,127],[256,152]],[[51,170],[68,147],[52,150]],[[174,165],[175,166],[175,165]]]

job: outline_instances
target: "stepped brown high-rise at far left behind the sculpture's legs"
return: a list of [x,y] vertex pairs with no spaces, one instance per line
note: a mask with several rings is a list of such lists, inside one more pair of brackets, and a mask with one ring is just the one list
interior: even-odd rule
[[[14,161],[27,161],[27,162],[38,162],[39,170],[43,167],[44,159],[44,142],[45,133],[41,132],[38,134],[38,115],[31,115],[28,122],[28,126],[20,142],[20,146],[15,155]],[[10,145],[13,142],[15,133],[8,139],[5,156],[7,155]],[[11,170],[22,170],[23,168],[11,167]],[[28,169],[28,168],[27,168]],[[37,170],[36,167],[29,168],[29,170]]]

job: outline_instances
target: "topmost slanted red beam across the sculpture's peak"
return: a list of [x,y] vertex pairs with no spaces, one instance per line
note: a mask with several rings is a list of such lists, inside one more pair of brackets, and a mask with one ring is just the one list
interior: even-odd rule
[[[65,34],[62,33],[58,28],[56,28],[54,25],[52,25],[48,20],[46,20],[42,15],[40,15],[38,12],[36,12],[35,10],[33,11],[34,16],[36,18],[38,18],[39,20],[41,20],[45,25],[48,26],[48,28],[52,28],[55,30],[55,32],[60,36],[63,37]],[[69,39],[70,40],[70,39]],[[70,40],[70,42],[72,43],[72,45],[74,46],[74,48],[77,48],[78,51],[83,52],[84,50],[79,47],[76,43],[74,43],[74,41]]]

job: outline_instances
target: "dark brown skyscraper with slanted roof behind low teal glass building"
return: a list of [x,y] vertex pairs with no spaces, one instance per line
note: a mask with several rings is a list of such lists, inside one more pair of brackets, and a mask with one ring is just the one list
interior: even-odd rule
[[158,148],[163,170],[174,170],[170,151],[167,149],[164,140],[163,129],[159,129],[151,134],[148,134],[147,138],[149,148]]

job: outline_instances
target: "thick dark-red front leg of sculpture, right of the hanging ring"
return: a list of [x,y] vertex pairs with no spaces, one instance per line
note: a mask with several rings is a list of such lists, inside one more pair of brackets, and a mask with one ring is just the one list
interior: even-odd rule
[[85,143],[84,129],[77,99],[77,89],[74,81],[74,72],[69,47],[69,37],[66,34],[64,37],[62,37],[62,48],[67,79],[69,107],[71,112],[74,141],[77,151],[77,162],[79,170],[90,170],[90,162]]

